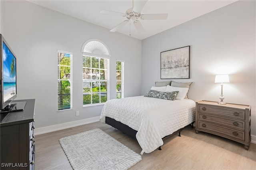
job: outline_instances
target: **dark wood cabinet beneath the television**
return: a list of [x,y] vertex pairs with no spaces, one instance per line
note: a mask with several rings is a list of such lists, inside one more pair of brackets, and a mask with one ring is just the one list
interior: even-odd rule
[[34,107],[35,99],[24,102],[24,111],[1,114],[1,170],[34,169]]

